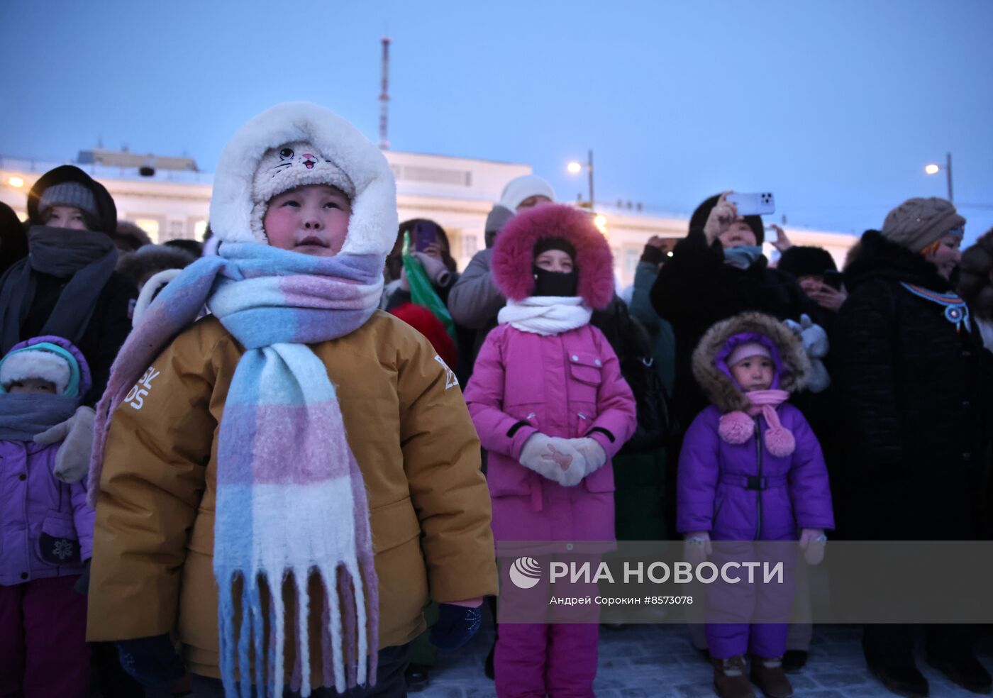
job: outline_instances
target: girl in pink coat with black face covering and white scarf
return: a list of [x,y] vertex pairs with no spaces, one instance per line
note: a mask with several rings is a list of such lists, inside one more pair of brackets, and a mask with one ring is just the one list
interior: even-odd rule
[[[500,231],[507,304],[466,389],[489,452],[499,541],[614,540],[610,459],[637,425],[618,358],[589,324],[614,294],[607,240],[588,213],[544,205]],[[593,696],[596,624],[500,624],[497,695]]]

